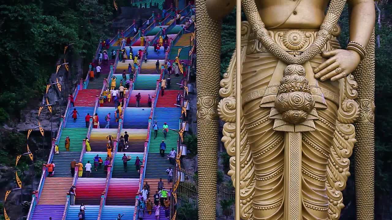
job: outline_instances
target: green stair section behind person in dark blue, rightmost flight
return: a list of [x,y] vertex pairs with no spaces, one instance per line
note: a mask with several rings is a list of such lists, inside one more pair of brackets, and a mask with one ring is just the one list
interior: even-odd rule
[[[168,154],[172,148],[177,150],[177,140],[178,140],[178,133],[172,130],[169,130],[167,133],[167,137],[163,136],[162,129],[158,131],[158,135],[156,139],[154,139],[154,130],[151,130],[151,138],[150,138],[150,146],[148,153],[159,153],[160,144],[162,140],[166,143],[166,151],[165,154]],[[147,159],[148,160],[148,159]]]

